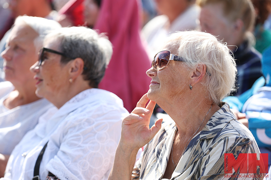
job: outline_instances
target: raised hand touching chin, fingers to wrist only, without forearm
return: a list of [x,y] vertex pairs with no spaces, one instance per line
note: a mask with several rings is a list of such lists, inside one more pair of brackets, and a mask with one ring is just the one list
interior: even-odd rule
[[163,119],[158,119],[149,128],[151,115],[156,103],[150,101],[145,108],[148,100],[147,94],[143,95],[132,113],[123,119],[120,143],[129,146],[129,148],[139,149],[145,146],[161,128]]

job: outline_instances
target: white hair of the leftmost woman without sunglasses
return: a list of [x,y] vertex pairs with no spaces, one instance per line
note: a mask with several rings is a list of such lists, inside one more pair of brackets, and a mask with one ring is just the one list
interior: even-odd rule
[[39,52],[39,49],[42,47],[45,36],[50,31],[61,28],[61,25],[54,20],[33,16],[18,16],[14,22],[14,26],[20,25],[22,23],[30,26],[39,34],[39,36],[34,40],[34,45],[37,52]]

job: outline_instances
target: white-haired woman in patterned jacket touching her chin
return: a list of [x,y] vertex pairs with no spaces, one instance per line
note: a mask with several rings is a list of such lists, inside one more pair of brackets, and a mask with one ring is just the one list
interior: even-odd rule
[[[236,74],[227,46],[213,35],[191,31],[171,35],[163,49],[147,71],[148,93],[122,122],[109,180],[223,179],[225,153],[259,157],[250,131],[221,102],[234,88]],[[149,128],[155,103],[174,122],[158,119]]]

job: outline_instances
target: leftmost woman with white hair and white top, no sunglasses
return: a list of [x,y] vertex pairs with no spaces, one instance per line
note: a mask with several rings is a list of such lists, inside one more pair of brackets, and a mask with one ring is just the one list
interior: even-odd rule
[[48,30],[60,24],[40,17],[20,16],[1,53],[6,82],[0,82],[0,177],[4,176],[11,151],[27,131],[38,123],[40,115],[52,106],[35,94],[33,72],[29,68],[38,59],[43,38]]

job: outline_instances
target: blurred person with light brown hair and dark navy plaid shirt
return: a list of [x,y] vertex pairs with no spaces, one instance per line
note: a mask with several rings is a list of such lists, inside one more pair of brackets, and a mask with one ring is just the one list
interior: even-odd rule
[[250,0],[197,0],[201,31],[215,35],[232,51],[237,64],[237,93],[245,92],[262,76],[261,54],[254,49],[255,10]]

